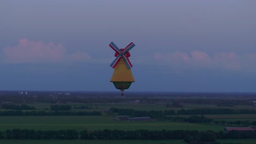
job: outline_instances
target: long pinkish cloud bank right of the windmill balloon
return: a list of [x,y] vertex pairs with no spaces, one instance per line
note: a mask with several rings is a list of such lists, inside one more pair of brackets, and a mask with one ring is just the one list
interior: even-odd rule
[[241,54],[235,52],[220,52],[210,55],[202,51],[161,53],[153,55],[156,61],[169,65],[197,68],[221,68],[229,70],[251,70],[256,71],[256,54]]

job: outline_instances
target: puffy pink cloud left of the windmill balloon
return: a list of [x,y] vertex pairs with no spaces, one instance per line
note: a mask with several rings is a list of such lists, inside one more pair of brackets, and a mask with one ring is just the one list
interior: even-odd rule
[[62,44],[20,39],[16,46],[3,49],[4,63],[58,63],[63,61],[85,61],[90,56],[85,52],[67,53]]

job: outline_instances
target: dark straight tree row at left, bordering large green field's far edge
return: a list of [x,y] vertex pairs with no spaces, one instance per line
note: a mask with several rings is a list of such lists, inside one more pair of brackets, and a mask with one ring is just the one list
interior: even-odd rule
[[100,111],[0,111],[0,116],[101,116]]

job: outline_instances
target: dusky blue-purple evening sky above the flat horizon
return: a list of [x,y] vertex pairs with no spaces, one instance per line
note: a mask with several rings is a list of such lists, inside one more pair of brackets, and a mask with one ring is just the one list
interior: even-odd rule
[[256,92],[256,1],[0,1],[0,90]]

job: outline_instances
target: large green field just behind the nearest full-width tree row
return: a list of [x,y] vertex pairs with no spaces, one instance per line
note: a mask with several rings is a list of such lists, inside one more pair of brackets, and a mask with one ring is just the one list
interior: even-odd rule
[[213,130],[220,131],[224,126],[214,124],[195,124],[183,122],[132,122],[113,121],[110,116],[3,116],[0,117],[0,131],[7,129],[35,130]]

